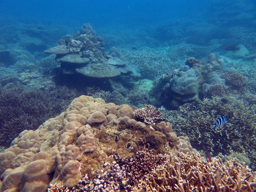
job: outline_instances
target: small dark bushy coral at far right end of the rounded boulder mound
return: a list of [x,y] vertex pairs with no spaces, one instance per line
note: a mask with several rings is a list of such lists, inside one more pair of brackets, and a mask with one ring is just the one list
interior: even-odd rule
[[227,72],[222,73],[221,78],[224,78],[228,84],[235,86],[235,87],[242,87],[248,81],[247,77],[242,76],[238,72],[230,73],[230,74]]

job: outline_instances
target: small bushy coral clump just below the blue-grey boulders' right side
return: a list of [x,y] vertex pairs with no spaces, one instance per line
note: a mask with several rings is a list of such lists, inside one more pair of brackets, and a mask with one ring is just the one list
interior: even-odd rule
[[222,84],[210,85],[204,93],[206,98],[212,98],[213,96],[226,96],[228,93],[228,87]]

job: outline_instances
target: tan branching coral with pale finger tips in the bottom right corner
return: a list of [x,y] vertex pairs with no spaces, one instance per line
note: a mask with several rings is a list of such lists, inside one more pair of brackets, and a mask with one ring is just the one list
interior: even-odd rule
[[180,154],[168,164],[158,167],[148,179],[141,180],[141,192],[237,192],[255,191],[256,176],[236,159],[222,163],[206,162],[200,156]]

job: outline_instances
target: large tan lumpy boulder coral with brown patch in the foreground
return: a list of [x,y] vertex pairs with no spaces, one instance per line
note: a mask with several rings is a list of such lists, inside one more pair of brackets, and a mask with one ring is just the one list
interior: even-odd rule
[[72,187],[82,175],[107,171],[113,156],[130,159],[143,148],[169,154],[176,142],[171,126],[152,129],[132,113],[126,104],[74,99],[65,112],[35,131],[24,130],[0,153],[0,191],[44,192],[50,183]]

